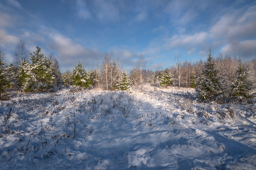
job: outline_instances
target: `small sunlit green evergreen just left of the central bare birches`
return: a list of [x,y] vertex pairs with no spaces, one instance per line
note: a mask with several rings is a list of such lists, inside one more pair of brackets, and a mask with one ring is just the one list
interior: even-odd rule
[[80,61],[78,65],[75,66],[75,69],[72,70],[72,85],[90,88],[91,87],[91,80],[89,74],[86,73],[86,69],[82,66]]

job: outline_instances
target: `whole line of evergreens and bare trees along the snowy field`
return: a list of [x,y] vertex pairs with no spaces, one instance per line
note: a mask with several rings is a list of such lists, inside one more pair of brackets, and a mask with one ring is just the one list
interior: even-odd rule
[[[239,96],[240,99],[249,98],[249,91],[255,87],[256,82],[256,58],[246,63],[243,63],[240,57],[223,56],[221,53],[214,58],[211,50],[206,62],[182,61],[181,55],[178,54],[173,66],[155,72],[145,69],[146,62],[141,54],[138,66],[132,69],[128,76],[121,62],[114,58],[112,53],[105,53],[99,66],[96,62],[95,69],[86,70],[79,61],[72,72],[61,73],[59,61],[53,53],[47,57],[42,54],[40,47],[37,46],[36,49],[29,53],[25,43],[20,40],[13,53],[14,60],[8,66],[4,61],[4,53],[0,50],[0,98],[4,98],[2,94],[7,88],[37,92],[75,85],[104,90],[128,90],[132,85],[143,91],[143,85],[149,83],[155,89],[167,88],[170,85],[178,88],[196,88],[200,100],[227,100],[234,96]],[[225,90],[221,86],[226,87]]]

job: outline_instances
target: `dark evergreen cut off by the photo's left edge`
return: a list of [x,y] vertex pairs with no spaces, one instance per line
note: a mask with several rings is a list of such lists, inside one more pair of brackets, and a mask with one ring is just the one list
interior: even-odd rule
[[10,85],[10,82],[7,80],[7,72],[5,69],[5,64],[7,63],[6,61],[3,61],[4,54],[1,53],[0,50],[0,98],[1,95],[5,92],[5,89]]

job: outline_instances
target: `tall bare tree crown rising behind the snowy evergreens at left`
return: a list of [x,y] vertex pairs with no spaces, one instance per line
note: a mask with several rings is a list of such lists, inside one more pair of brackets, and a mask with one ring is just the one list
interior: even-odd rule
[[27,60],[29,52],[26,50],[26,44],[23,40],[20,39],[20,42],[18,42],[18,45],[15,47],[12,56],[14,58],[13,63],[15,66],[20,66],[21,61]]

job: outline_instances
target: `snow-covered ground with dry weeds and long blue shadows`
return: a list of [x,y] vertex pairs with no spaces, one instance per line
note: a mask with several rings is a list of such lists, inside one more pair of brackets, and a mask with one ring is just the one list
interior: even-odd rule
[[13,93],[0,169],[256,169],[255,112],[192,89]]

